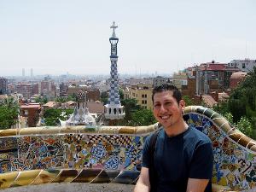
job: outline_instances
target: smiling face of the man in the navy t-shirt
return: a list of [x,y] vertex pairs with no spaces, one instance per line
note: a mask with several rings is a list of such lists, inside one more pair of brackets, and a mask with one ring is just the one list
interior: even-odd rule
[[164,128],[177,125],[183,120],[182,110],[185,103],[183,100],[177,103],[177,100],[172,94],[171,90],[154,94],[154,118],[157,119]]

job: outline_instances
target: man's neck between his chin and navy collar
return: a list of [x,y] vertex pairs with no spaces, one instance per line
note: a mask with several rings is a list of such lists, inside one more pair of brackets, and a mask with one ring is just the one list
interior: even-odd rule
[[175,137],[184,131],[188,130],[189,125],[182,119],[181,122],[177,122],[175,125],[170,125],[169,127],[164,127],[166,135],[168,137]]

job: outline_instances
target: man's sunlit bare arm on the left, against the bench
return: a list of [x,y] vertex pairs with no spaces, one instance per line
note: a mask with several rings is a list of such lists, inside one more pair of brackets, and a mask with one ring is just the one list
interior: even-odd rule
[[149,192],[150,182],[149,182],[149,172],[147,167],[142,167],[141,174],[137,180],[134,192]]

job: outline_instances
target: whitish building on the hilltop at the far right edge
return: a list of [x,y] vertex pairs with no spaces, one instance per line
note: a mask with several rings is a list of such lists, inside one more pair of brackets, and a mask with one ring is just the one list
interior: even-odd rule
[[252,72],[253,67],[256,67],[256,60],[232,60],[230,63],[228,63],[229,67],[237,67],[242,72]]

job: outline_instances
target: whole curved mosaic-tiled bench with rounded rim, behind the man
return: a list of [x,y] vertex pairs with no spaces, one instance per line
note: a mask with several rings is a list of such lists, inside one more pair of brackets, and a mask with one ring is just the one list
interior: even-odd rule
[[[208,108],[187,107],[184,119],[212,139],[213,190],[255,191],[256,142]],[[0,131],[0,188],[60,182],[136,183],[144,139],[156,129],[158,124]]]

